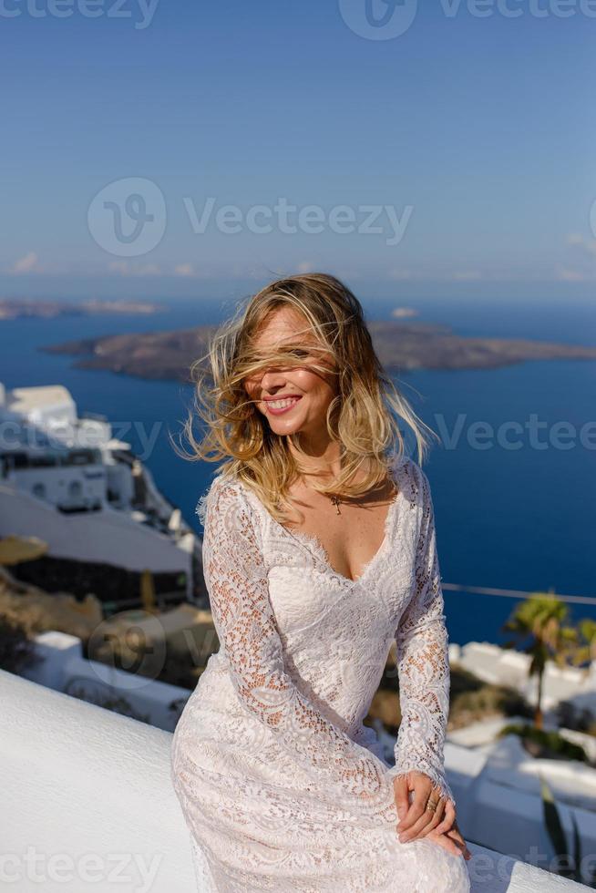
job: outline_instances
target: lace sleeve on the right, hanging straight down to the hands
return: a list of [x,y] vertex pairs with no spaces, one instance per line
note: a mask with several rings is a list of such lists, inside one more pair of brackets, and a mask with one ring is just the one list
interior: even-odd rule
[[424,772],[443,796],[447,783],[443,746],[449,712],[448,635],[437,557],[434,508],[428,478],[418,468],[422,521],[416,548],[414,594],[397,631],[397,671],[402,720],[390,775]]

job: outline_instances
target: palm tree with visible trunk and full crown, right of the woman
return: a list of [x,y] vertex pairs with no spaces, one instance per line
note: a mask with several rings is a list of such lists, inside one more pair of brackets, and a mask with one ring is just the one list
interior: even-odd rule
[[505,642],[505,648],[515,648],[529,639],[523,648],[531,656],[529,677],[538,676],[538,697],[534,724],[542,728],[542,681],[548,660],[565,666],[570,654],[577,647],[577,631],[566,626],[569,608],[548,592],[532,592],[528,599],[519,602],[502,629],[514,634]]

